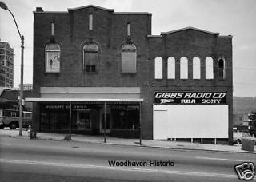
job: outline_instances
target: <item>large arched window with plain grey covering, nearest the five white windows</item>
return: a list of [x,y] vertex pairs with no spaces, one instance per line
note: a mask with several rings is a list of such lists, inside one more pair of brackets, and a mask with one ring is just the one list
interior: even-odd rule
[[136,73],[137,49],[134,44],[122,45],[122,73]]

